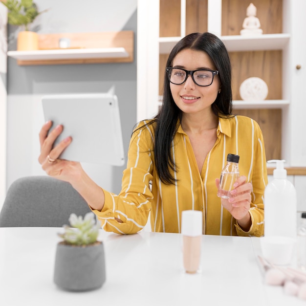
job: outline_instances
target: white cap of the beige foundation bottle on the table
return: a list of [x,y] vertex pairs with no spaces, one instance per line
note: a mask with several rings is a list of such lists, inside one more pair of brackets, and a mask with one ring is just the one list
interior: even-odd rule
[[203,213],[198,210],[182,211],[182,230],[185,236],[196,237],[203,234]]

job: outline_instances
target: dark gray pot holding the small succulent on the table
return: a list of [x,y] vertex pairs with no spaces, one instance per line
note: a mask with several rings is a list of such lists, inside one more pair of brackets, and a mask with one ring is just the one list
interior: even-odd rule
[[105,282],[103,243],[75,246],[57,244],[54,283],[69,291],[88,291],[100,288]]

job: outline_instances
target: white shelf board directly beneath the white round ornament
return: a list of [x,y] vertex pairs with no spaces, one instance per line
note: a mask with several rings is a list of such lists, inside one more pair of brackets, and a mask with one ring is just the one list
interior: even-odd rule
[[263,101],[233,101],[234,109],[284,109],[289,100],[263,100]]

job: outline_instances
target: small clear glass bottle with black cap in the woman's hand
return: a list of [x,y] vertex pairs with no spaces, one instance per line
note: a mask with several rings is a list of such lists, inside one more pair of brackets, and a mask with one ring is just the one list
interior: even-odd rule
[[230,198],[230,191],[233,188],[234,183],[239,177],[239,155],[228,154],[227,155],[227,164],[223,168],[220,177],[219,190],[217,193],[218,197]]

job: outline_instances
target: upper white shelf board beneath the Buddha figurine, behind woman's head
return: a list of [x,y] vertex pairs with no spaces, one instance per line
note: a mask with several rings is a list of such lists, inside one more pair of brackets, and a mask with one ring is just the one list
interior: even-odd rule
[[[289,41],[289,34],[262,34],[258,36],[221,36],[227,50],[254,51],[254,50],[283,50]],[[168,54],[181,37],[160,37],[159,53]]]

